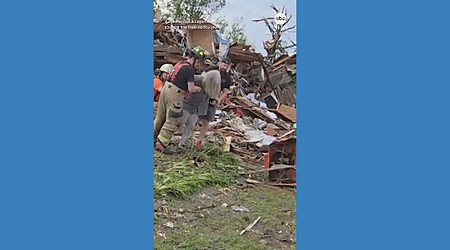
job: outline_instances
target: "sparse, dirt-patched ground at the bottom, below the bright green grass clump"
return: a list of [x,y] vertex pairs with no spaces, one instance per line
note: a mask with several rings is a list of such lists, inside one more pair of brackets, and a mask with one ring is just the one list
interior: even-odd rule
[[[258,223],[240,235],[259,216]],[[206,188],[187,199],[155,202],[157,250],[295,249],[295,239],[293,189]]]

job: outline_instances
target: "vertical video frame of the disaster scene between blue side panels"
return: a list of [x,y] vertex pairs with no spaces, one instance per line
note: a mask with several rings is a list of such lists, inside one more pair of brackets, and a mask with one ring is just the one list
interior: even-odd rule
[[296,248],[296,1],[154,1],[155,249]]

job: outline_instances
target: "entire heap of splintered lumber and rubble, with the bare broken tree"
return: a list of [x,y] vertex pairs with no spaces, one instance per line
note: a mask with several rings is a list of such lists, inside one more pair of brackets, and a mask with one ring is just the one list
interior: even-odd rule
[[[218,111],[214,131],[226,141],[227,150],[248,161],[264,162],[271,181],[295,185],[296,54],[287,53],[280,42],[281,34],[293,27],[270,19],[254,20],[264,21],[272,33],[272,39],[263,42],[266,56],[249,45],[229,42],[218,27],[204,20],[188,24],[155,20],[154,66],[175,64],[194,46],[214,58],[230,58],[230,102]],[[203,28],[186,28],[199,23]]]

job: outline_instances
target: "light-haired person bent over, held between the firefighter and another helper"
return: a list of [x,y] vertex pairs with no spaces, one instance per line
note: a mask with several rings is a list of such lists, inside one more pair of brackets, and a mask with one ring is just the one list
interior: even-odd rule
[[[207,66],[212,65],[210,59],[205,60]],[[192,137],[192,132],[198,122],[199,114],[205,114],[209,100],[216,100],[220,94],[220,72],[218,70],[204,71],[202,75],[196,75],[194,83],[202,88],[200,92],[190,93],[183,101],[182,136],[178,144],[180,149],[186,147],[187,140]]]

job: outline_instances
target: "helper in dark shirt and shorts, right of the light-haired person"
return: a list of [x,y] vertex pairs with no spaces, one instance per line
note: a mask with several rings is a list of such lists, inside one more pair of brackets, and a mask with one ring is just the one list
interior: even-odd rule
[[211,66],[205,69],[205,72],[210,70],[218,70],[220,72],[221,76],[221,94],[218,99],[211,99],[209,101],[209,105],[207,107],[207,111],[204,112],[204,115],[202,114],[199,119],[201,122],[201,129],[200,129],[200,135],[197,141],[197,148],[200,149],[203,147],[204,139],[206,136],[206,132],[208,131],[208,126],[210,122],[214,121],[214,118],[216,116],[216,106],[218,104],[221,104],[224,100],[228,98],[228,94],[230,93],[230,87],[231,87],[231,76],[229,75],[228,71],[231,67],[231,60],[230,58],[226,57],[223,58],[217,66]]

